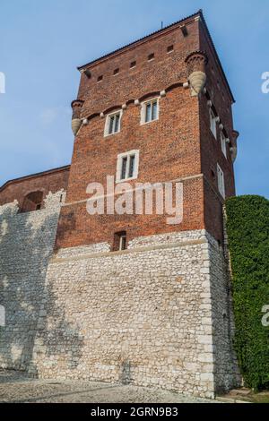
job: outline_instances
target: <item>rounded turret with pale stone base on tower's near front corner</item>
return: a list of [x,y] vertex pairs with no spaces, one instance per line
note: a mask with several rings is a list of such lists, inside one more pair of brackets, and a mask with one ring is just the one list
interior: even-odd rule
[[187,56],[185,60],[192,95],[199,95],[204,89],[206,82],[205,66],[207,61],[207,56],[203,51],[195,51]]

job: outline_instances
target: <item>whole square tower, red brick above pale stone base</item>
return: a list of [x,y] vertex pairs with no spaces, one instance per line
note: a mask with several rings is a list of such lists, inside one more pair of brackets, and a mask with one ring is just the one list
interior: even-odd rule
[[[30,371],[213,397],[238,381],[222,223],[238,133],[203,13],[79,71],[74,153]],[[107,176],[134,190],[180,183],[182,220],[89,214],[88,185]]]

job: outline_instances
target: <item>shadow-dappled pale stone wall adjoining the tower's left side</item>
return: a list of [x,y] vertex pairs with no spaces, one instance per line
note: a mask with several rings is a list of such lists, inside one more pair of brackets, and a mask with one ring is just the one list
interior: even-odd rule
[[41,211],[18,213],[18,203],[0,206],[0,367],[30,365],[39,315],[46,303],[45,279],[53,253],[63,190],[48,193]]

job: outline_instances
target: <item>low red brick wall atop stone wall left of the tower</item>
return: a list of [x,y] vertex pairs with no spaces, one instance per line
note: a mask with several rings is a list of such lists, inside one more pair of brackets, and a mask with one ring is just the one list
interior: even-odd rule
[[48,192],[56,193],[62,188],[66,190],[68,176],[69,167],[64,167],[12,180],[0,188],[0,205],[17,200],[22,208],[25,196],[31,192],[43,192],[45,198]]

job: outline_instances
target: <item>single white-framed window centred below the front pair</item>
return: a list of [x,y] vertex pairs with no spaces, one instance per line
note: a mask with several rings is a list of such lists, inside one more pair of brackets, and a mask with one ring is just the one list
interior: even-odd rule
[[116,182],[133,180],[138,176],[139,150],[130,150],[117,156]]

